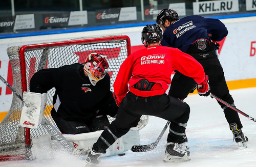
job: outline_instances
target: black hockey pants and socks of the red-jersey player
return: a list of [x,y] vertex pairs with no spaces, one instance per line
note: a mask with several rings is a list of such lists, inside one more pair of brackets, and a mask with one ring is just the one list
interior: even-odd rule
[[[185,133],[190,108],[181,100],[170,95],[158,95],[142,98],[129,92],[122,100],[115,121],[105,129],[93,145],[95,152],[105,153],[119,137],[126,134],[131,127],[136,127],[142,115],[150,115],[172,121],[168,137],[170,141],[179,143]],[[174,141],[176,140],[176,141]]]

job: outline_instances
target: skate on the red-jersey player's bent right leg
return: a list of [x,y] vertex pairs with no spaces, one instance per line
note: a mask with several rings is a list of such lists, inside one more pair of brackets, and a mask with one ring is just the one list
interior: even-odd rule
[[182,149],[178,143],[167,143],[163,161],[166,163],[185,162],[190,160],[189,155],[189,151]]

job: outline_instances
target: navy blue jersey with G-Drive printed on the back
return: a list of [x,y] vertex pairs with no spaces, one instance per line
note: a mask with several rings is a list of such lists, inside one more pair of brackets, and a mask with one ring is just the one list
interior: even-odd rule
[[208,34],[212,35],[212,40],[221,41],[227,36],[228,31],[218,19],[198,15],[187,16],[167,27],[161,44],[186,52],[190,44],[196,40],[201,38],[209,40]]

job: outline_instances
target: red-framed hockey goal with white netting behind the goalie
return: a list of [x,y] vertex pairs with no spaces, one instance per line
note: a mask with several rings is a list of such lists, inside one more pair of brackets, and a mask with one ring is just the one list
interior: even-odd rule
[[[131,54],[130,38],[127,36],[104,36],[79,38],[68,41],[41,43],[7,48],[12,66],[13,88],[20,95],[30,91],[31,77],[42,68],[58,68],[63,65],[83,63],[91,52],[101,53],[109,62],[111,90],[122,62]],[[41,62],[41,63],[40,63]],[[45,118],[55,126],[50,112],[53,107],[52,97],[55,89],[47,92],[48,101]],[[36,129],[20,127],[20,115],[23,102],[13,94],[8,114],[0,123],[0,161],[26,159],[33,138],[47,134],[47,130],[39,125]],[[110,122],[113,120],[110,119]],[[58,129],[58,128],[57,128]]]

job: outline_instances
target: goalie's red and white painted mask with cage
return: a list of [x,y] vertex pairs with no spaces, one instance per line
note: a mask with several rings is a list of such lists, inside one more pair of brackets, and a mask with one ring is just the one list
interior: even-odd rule
[[104,55],[91,53],[84,62],[83,70],[88,74],[88,77],[93,86],[100,79],[103,79],[109,70],[109,63],[104,58]]

